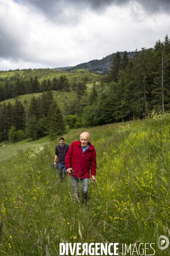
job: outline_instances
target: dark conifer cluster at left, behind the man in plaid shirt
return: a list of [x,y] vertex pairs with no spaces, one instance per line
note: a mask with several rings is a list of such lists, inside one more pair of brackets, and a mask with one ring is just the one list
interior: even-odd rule
[[25,107],[16,99],[14,105],[0,105],[0,142],[35,140],[47,134],[56,137],[65,130],[62,111],[51,91],[38,98],[33,96],[29,106],[26,100],[24,104]]

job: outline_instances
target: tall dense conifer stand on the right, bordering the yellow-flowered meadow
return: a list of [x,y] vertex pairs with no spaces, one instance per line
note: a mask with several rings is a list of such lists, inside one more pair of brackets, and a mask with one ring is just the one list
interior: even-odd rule
[[[152,112],[170,110],[170,39],[156,41],[154,49],[133,58],[116,53],[110,72],[103,76],[106,86],[93,88],[91,102],[82,111],[82,126],[146,118]],[[97,95],[97,96],[96,96]]]

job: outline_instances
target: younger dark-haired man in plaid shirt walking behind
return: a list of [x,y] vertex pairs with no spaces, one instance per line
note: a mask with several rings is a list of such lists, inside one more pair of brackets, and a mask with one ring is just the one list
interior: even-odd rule
[[60,137],[59,145],[56,146],[54,164],[56,164],[56,161],[58,158],[58,172],[61,178],[62,178],[62,170],[64,170],[64,174],[66,173],[65,155],[67,154],[68,149],[69,149],[69,145],[64,143],[63,137]]

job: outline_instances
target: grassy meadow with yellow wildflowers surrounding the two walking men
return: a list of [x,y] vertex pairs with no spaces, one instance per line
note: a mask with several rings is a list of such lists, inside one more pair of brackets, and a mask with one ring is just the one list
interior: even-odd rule
[[[126,243],[135,256],[153,255],[134,248],[154,243],[154,255],[170,255],[157,246],[160,235],[170,239],[170,114],[86,130],[97,153],[87,205],[74,201],[68,176],[51,188],[58,139],[2,159],[0,255],[59,256],[60,242],[119,242],[119,255]],[[63,134],[65,143],[82,131]]]

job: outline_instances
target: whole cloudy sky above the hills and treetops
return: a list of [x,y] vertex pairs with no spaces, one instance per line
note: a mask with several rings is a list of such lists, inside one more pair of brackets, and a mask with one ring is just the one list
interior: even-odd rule
[[0,70],[74,66],[170,36],[170,0],[0,0]]

